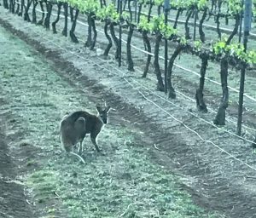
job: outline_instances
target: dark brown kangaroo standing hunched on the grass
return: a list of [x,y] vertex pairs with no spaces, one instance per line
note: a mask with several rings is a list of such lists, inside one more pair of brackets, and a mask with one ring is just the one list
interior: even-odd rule
[[[65,151],[78,157],[83,163],[84,159],[80,155],[83,152],[85,135],[90,134],[90,141],[96,147],[96,151],[100,152],[96,143],[96,137],[101,132],[103,125],[108,123],[110,106],[104,106],[104,108],[96,106],[96,109],[98,112],[97,115],[79,111],[66,115],[61,120],[61,142]],[[73,152],[73,147],[77,143],[79,143],[79,155]]]

